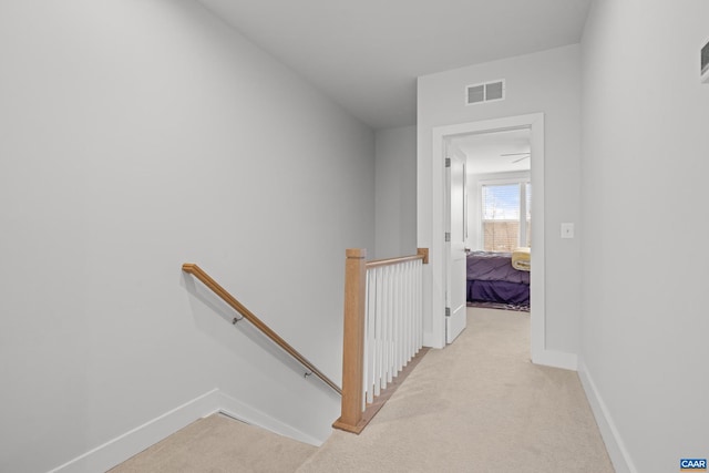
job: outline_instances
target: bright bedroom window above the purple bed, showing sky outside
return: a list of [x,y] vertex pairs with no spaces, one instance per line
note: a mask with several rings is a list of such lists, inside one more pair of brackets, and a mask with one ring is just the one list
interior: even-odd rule
[[482,184],[483,249],[512,251],[531,246],[532,185],[528,181]]

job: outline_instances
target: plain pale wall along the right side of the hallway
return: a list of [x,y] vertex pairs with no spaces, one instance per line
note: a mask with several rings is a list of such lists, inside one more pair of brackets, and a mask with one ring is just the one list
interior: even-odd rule
[[709,456],[708,18],[597,0],[583,38],[582,374],[618,472]]

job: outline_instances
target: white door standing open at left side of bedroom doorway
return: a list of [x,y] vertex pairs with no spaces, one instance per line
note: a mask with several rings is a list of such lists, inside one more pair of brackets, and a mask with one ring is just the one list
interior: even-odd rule
[[[445,342],[452,343],[465,328],[465,273],[466,273],[466,192],[465,160],[448,152],[445,146],[446,191],[446,290]],[[450,235],[450,238],[449,238]]]

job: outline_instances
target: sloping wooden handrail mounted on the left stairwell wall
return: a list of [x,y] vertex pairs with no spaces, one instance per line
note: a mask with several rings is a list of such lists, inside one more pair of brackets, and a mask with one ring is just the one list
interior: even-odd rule
[[242,302],[236,300],[234,296],[227,292],[222,286],[219,286],[214,279],[207,275],[204,269],[194,263],[185,263],[182,265],[182,270],[193,275],[197,279],[199,279],[206,287],[212,289],[214,294],[216,294],[222,300],[228,304],[234,310],[239,312],[246,320],[251,322],[258,330],[260,330],[266,337],[270,338],[278,347],[280,347],[284,351],[290,354],[292,358],[298,360],[300,364],[306,367],[312,374],[320,378],[327,385],[332,388],[339,394],[342,394],[342,390],[338,387],[330,378],[325,376],[320,370],[318,370],[310,361],[306,359],[302,354],[298,352],[295,348],[292,348],[286,340],[280,338],[278,333],[270,329],[261,319],[256,317],[254,312],[248,310]]

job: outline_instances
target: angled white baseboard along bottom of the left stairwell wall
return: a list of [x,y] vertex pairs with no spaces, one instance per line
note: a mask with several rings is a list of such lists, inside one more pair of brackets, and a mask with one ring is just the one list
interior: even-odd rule
[[76,456],[63,465],[56,466],[49,473],[105,472],[172,435],[179,429],[215,412],[223,412],[234,419],[311,445],[319,446],[326,440],[315,439],[225,394],[219,389],[213,389],[143,425],[110,440],[103,445]]

